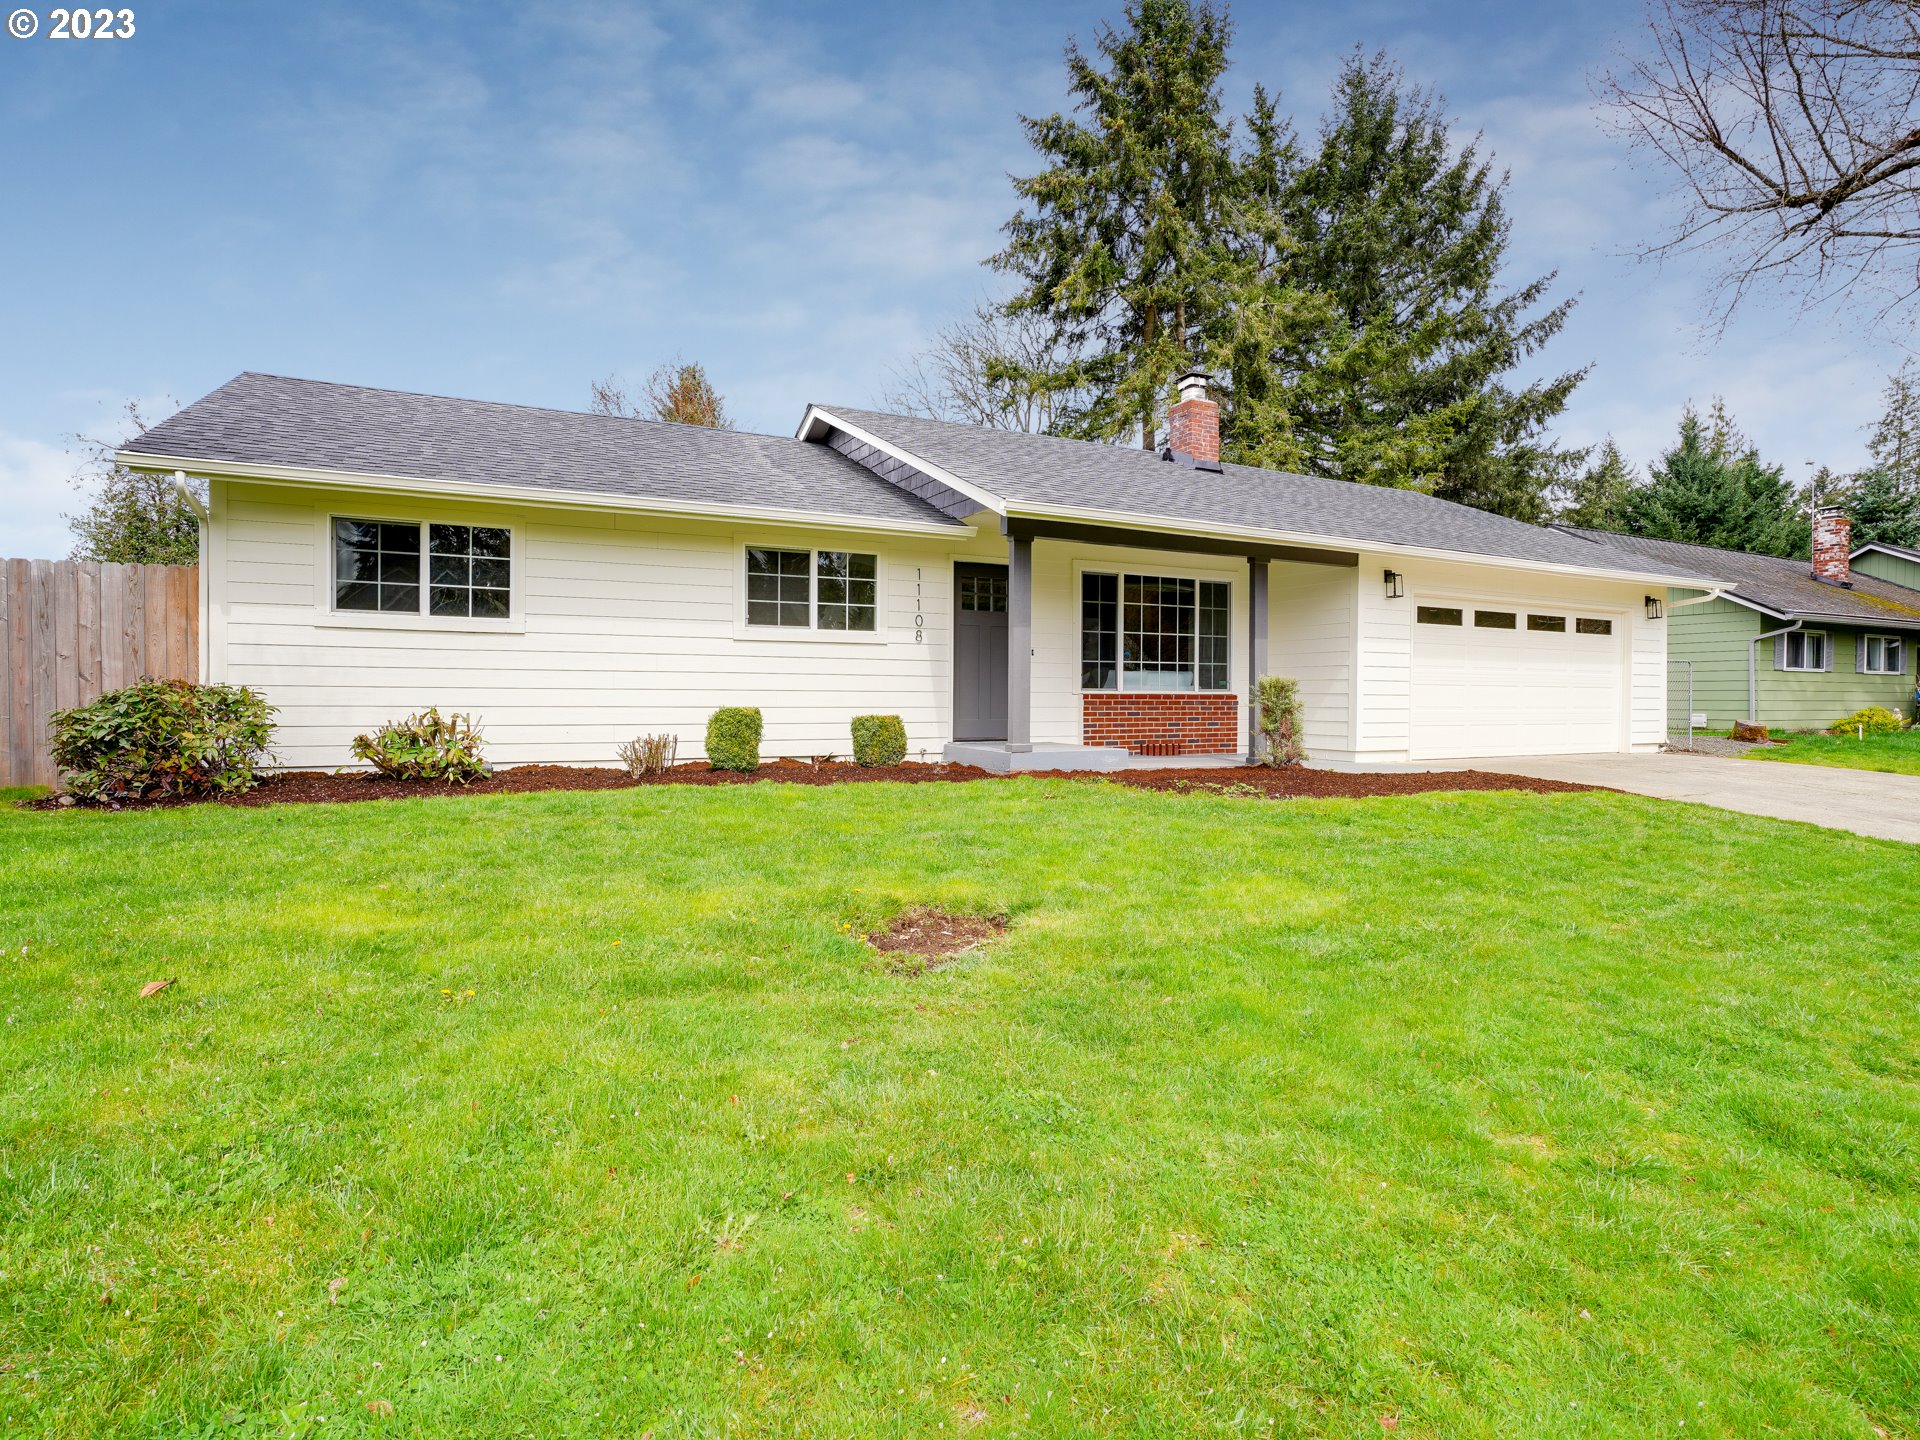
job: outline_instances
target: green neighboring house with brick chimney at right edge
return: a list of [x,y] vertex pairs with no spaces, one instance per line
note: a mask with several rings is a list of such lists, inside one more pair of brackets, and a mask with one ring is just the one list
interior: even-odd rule
[[[1914,714],[1920,653],[1920,551],[1847,547],[1847,518],[1816,513],[1809,561],[1561,526],[1597,545],[1726,582],[1716,599],[1667,593],[1668,728],[1751,720],[1826,730],[1866,705]],[[1692,603],[1690,603],[1692,601]]]

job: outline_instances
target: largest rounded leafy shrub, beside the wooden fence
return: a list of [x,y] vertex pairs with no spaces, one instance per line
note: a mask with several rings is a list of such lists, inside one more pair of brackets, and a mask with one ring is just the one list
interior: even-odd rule
[[246,685],[140,680],[56,710],[54,764],[77,801],[238,795],[273,739],[273,707]]

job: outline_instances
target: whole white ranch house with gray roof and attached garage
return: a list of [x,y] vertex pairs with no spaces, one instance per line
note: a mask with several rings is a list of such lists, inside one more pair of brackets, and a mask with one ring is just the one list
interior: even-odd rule
[[854,714],[991,768],[1248,751],[1300,682],[1315,760],[1651,751],[1668,588],[1705,576],[1428,495],[1221,465],[1204,376],[1160,455],[837,405],[793,438],[242,374],[121,463],[205,478],[202,666],[349,764],[470,712],[495,762],[845,755]]

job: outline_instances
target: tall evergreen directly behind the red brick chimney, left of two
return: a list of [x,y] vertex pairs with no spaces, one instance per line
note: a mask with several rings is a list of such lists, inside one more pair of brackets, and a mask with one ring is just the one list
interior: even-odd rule
[[1233,271],[1223,209],[1235,182],[1219,83],[1233,27],[1210,0],[1129,0],[1102,27],[1098,63],[1068,44],[1079,119],[1021,117],[1048,161],[1014,180],[1025,207],[989,263],[1021,280],[1012,315],[1035,313],[1073,361],[1023,384],[1079,394],[1054,430],[1139,436],[1152,449],[1167,390],[1221,324]]

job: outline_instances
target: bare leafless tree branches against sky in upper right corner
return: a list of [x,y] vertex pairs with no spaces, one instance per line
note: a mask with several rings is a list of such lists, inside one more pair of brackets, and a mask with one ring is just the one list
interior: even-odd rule
[[[1711,252],[1724,324],[1759,284],[1801,303],[1920,298],[1920,4],[1651,0],[1649,50],[1599,81],[1617,127],[1676,179],[1645,259]],[[1910,323],[1910,321],[1908,321]]]

